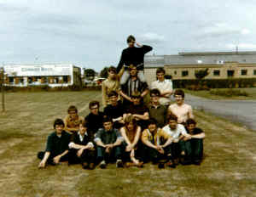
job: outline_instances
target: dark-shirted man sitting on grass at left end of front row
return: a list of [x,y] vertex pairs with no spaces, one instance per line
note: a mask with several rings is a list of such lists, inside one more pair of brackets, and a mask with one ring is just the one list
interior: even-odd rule
[[64,122],[61,119],[55,120],[55,132],[49,135],[45,151],[38,152],[38,158],[41,160],[38,168],[44,168],[46,164],[55,165],[60,161],[68,160],[70,134],[63,130],[64,126]]

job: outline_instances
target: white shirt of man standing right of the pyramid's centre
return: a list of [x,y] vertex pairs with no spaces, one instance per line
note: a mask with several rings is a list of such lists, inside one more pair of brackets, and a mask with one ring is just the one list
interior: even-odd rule
[[[154,81],[151,83],[151,89],[157,88],[160,90],[160,93],[166,92],[166,91],[172,91],[172,81],[171,80],[164,80],[163,82],[160,82],[159,80]],[[170,98],[161,97],[159,99],[160,104],[170,104]]]

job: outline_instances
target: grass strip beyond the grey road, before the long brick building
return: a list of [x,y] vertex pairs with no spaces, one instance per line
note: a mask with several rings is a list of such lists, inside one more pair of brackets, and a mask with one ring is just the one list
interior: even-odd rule
[[[248,97],[244,96],[232,96],[232,97],[224,97],[224,96],[218,96],[218,95],[213,95],[210,93],[210,91],[207,90],[200,90],[200,91],[192,91],[192,90],[187,90],[184,89],[185,93],[190,93],[192,95],[202,97],[202,98],[210,98],[210,99],[241,99],[241,100],[254,100],[256,99],[256,87],[251,87],[251,88],[234,88],[234,90],[241,90],[245,91],[248,93]],[[215,90],[215,89],[214,89]],[[218,90],[218,89],[216,89]],[[221,88],[219,90],[227,90],[227,88]]]

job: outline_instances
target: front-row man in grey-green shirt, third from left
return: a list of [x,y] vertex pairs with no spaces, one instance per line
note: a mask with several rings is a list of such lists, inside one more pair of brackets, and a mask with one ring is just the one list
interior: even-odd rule
[[106,168],[108,162],[116,160],[117,167],[123,167],[123,137],[120,132],[113,128],[113,121],[106,117],[103,119],[103,127],[96,132],[94,141],[97,145],[97,160],[100,161],[100,167]]

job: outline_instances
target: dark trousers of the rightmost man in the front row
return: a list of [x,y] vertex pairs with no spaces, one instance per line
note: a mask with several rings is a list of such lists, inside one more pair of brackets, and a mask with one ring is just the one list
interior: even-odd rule
[[181,150],[190,160],[201,160],[203,155],[203,140],[192,138],[187,141],[180,141]]

